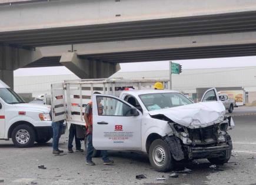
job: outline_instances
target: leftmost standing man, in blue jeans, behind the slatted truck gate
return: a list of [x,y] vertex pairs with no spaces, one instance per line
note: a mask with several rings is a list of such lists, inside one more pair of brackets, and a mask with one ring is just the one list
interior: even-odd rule
[[[56,99],[62,99],[63,96],[56,96]],[[55,106],[56,108],[56,106]],[[50,111],[50,116],[52,120],[52,110]],[[52,147],[53,147],[53,154],[63,153],[63,150],[59,150],[59,137],[61,137],[62,129],[63,129],[64,120],[58,122],[52,122]]]

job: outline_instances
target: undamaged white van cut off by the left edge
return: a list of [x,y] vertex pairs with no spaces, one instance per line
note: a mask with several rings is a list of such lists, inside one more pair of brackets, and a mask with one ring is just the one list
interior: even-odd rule
[[0,80],[0,139],[12,139],[17,147],[46,143],[52,137],[50,107],[25,103]]

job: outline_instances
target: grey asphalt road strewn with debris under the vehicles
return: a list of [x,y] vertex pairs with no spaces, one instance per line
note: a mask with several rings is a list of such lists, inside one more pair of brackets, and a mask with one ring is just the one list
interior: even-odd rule
[[[86,166],[85,153],[67,153],[66,134],[61,139],[60,148],[65,150],[62,156],[51,153],[51,141],[29,149],[18,149],[11,141],[0,141],[0,181],[4,180],[0,184],[254,184],[256,115],[248,115],[253,108],[249,109],[234,110],[235,129],[230,131],[234,150],[230,162],[218,170],[210,168],[207,160],[196,160],[175,167],[175,170],[187,167],[192,173],[168,178],[171,172],[154,171],[145,154],[112,151],[109,157],[115,161],[114,165],[103,166],[102,160],[95,158],[96,166]],[[46,169],[38,169],[42,164]],[[137,180],[137,174],[145,174],[147,179]],[[163,176],[167,180],[157,180]]]

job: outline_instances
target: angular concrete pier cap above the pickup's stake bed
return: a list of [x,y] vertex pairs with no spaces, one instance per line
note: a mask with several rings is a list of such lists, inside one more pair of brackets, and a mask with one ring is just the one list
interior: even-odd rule
[[63,53],[59,62],[81,79],[108,78],[120,69],[119,63],[81,59],[75,52]]

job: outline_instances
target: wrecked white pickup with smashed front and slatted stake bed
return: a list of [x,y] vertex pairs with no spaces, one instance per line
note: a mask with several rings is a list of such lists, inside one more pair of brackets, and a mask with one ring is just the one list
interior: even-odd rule
[[[65,81],[52,85],[52,93],[53,97],[58,93],[67,96],[68,124],[85,124],[84,106],[92,99],[92,142],[97,150],[148,153],[157,171],[171,170],[175,160],[228,162],[232,142],[227,130],[234,127],[234,122],[225,116],[216,89],[209,89],[202,98],[214,94],[215,102],[193,103],[174,90],[145,90],[149,82],[137,84],[132,80]],[[102,95],[93,95],[95,91]],[[98,112],[99,106],[103,113]],[[54,113],[58,114],[56,110]]]

